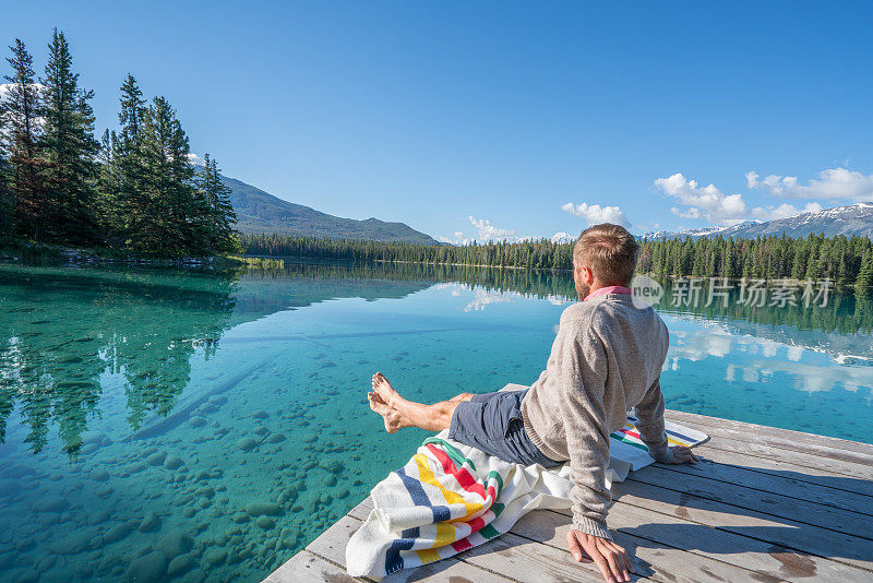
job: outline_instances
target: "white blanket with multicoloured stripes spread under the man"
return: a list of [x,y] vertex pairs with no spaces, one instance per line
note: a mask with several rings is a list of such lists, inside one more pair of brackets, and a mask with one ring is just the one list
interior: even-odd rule
[[[635,421],[629,415],[610,436],[608,486],[654,462]],[[667,433],[671,445],[707,439],[669,421]],[[512,464],[442,431],[373,488],[373,510],[346,547],[346,568],[352,576],[385,576],[452,557],[507,532],[530,510],[569,508],[571,487],[569,464]]]

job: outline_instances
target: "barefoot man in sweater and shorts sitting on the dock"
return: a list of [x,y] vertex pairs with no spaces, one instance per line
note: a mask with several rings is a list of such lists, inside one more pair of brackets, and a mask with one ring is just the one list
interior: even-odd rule
[[424,405],[405,400],[373,374],[370,408],[393,433],[404,427],[449,429],[449,437],[501,460],[554,467],[570,462],[573,557],[594,560],[609,582],[630,581],[631,562],[607,528],[609,435],[635,407],[641,439],[661,463],[694,463],[687,448],[668,447],[660,372],[667,326],[650,307],[632,301],[639,246],[625,228],[602,224],[582,233],[573,248],[579,297],[561,314],[551,355],[530,389]]

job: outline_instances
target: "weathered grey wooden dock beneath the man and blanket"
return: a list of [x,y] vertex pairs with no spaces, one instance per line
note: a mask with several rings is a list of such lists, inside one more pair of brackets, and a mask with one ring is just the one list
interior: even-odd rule
[[[609,526],[632,581],[873,581],[873,445],[668,411],[711,439],[696,466],[655,464],[612,488]],[[368,498],[268,583],[350,578],[345,549]],[[569,511],[536,510],[510,533],[384,581],[602,582],[567,552]]]

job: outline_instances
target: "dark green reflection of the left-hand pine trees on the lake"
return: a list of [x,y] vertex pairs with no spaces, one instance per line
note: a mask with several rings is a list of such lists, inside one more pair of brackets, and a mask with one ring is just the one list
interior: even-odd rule
[[74,455],[99,415],[101,377],[125,379],[129,420],[166,413],[228,326],[237,274],[167,271],[0,270],[0,440],[17,405],[39,452],[57,423]]

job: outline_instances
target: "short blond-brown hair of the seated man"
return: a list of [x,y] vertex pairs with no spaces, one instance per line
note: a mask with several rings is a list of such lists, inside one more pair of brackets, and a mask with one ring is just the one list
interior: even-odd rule
[[611,223],[583,230],[573,247],[573,263],[588,265],[603,285],[631,285],[638,255],[634,236]]

